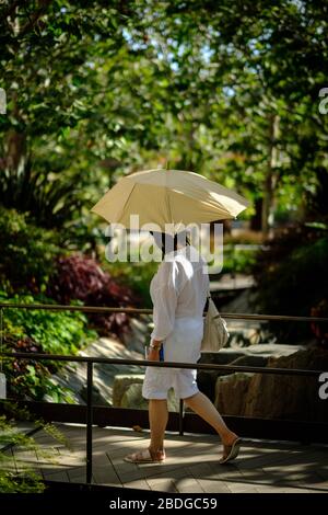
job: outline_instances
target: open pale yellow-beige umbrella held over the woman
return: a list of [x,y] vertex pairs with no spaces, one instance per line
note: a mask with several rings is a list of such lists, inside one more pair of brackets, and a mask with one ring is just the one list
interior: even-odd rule
[[147,170],[120,179],[91,209],[110,224],[201,224],[232,219],[249,205],[232,190],[183,170]]

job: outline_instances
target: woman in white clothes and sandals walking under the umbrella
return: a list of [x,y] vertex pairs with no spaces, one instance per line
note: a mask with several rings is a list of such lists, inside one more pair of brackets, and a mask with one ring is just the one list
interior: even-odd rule
[[[157,362],[197,363],[203,335],[203,309],[209,289],[207,263],[189,244],[181,244],[180,234],[153,233],[162,249],[163,261],[152,278],[154,329],[148,359]],[[185,240],[186,241],[186,240]],[[126,461],[140,464],[164,461],[164,435],[168,420],[167,392],[174,388],[177,398],[207,421],[223,444],[225,464],[236,458],[241,439],[229,430],[210,399],[197,386],[196,369],[148,367],[142,396],[149,400],[151,440],[148,449],[133,453]]]

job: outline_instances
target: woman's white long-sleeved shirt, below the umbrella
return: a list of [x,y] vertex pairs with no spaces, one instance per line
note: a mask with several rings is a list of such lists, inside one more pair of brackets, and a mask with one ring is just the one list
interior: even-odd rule
[[192,245],[165,254],[150,284],[153,301],[153,340],[165,340],[176,318],[199,318],[209,290],[208,265]]

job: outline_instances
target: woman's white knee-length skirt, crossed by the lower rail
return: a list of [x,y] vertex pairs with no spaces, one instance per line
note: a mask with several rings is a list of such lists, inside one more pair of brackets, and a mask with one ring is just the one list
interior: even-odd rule
[[[176,318],[172,333],[163,342],[164,360],[197,363],[203,335],[203,318]],[[198,393],[197,370],[190,368],[147,367],[142,386],[145,399],[167,399],[174,388],[179,399]]]

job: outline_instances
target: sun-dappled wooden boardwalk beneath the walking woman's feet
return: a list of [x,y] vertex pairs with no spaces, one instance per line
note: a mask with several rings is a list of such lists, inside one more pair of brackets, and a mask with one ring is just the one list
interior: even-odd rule
[[[56,424],[71,449],[44,431],[34,435],[39,450],[12,448],[12,468],[30,466],[47,480],[85,482],[85,427]],[[134,465],[124,456],[145,448],[148,432],[93,430],[93,482],[176,493],[328,493],[328,446],[245,440],[241,457],[219,465],[215,436],[168,433],[165,464]]]

